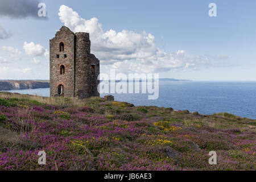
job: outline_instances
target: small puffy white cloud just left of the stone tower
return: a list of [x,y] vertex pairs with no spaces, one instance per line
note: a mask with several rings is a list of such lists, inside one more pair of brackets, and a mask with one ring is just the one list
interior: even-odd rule
[[46,48],[41,46],[40,44],[35,44],[34,42],[27,43],[24,42],[23,49],[29,56],[45,56],[48,52]]

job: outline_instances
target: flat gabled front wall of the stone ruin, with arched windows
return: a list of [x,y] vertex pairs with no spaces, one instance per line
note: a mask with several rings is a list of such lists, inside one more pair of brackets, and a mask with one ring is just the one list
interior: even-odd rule
[[[64,43],[64,51],[59,51],[59,44]],[[67,27],[61,27],[50,40],[50,94],[55,96],[57,87],[64,86],[64,96],[74,97],[75,78],[75,34]],[[59,55],[59,58],[57,58]],[[67,57],[64,57],[67,55]],[[65,73],[60,74],[60,66],[64,65]]]

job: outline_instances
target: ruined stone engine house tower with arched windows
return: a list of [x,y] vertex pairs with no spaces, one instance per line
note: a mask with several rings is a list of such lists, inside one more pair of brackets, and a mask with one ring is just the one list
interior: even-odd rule
[[97,90],[100,61],[90,53],[89,34],[61,27],[50,46],[50,95],[87,98]]

